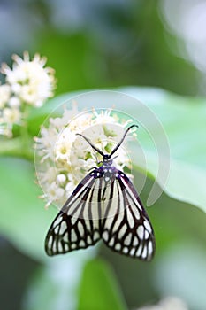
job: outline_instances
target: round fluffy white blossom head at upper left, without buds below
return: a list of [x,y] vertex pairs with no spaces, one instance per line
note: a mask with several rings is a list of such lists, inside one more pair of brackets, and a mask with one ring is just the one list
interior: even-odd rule
[[41,106],[44,101],[53,96],[55,87],[54,70],[46,67],[46,58],[35,54],[30,60],[28,52],[23,58],[13,55],[13,66],[2,65],[5,81],[11,86],[14,96],[27,105]]

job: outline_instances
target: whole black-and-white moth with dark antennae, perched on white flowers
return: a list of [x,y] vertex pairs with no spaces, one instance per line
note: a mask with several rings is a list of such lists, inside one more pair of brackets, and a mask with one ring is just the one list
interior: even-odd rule
[[103,160],[83,178],[52,222],[45,239],[48,255],[85,249],[103,240],[111,250],[140,260],[151,260],[156,244],[154,230],[134,184],[118,170],[112,156],[126,134],[110,154],[104,154],[88,137],[88,144]]

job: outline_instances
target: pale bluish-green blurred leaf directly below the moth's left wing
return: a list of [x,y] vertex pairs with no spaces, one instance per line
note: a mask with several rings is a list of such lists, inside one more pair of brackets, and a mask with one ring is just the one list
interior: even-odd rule
[[34,273],[24,296],[23,309],[75,310],[85,263],[94,254],[90,248],[50,258]]

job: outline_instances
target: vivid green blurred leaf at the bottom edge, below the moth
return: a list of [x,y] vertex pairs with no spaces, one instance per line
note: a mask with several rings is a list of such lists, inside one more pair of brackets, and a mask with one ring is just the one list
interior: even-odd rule
[[87,309],[126,309],[113,271],[103,260],[88,261],[82,275],[78,310]]

